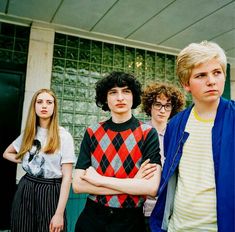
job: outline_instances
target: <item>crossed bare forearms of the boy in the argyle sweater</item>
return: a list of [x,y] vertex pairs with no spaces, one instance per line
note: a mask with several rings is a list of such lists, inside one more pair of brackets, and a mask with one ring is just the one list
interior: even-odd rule
[[93,167],[76,169],[73,176],[75,193],[95,195],[149,195],[155,197],[161,178],[161,166],[146,160],[134,178],[102,176]]

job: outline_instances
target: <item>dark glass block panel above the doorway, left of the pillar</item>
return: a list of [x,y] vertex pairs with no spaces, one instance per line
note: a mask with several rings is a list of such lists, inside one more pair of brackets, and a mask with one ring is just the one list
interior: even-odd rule
[[26,64],[30,27],[0,22],[0,61]]

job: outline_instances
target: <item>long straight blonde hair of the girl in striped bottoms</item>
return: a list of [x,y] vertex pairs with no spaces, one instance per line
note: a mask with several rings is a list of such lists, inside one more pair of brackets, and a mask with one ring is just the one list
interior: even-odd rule
[[17,159],[22,159],[25,153],[31,149],[34,138],[37,133],[37,126],[39,125],[39,117],[35,111],[35,104],[39,94],[48,93],[54,98],[54,112],[51,116],[48,126],[47,142],[43,148],[43,152],[52,154],[60,148],[60,135],[59,135],[59,123],[58,123],[58,103],[55,94],[50,89],[40,89],[34,95],[30,103],[28,117],[25,125],[23,140],[21,148],[17,154]]

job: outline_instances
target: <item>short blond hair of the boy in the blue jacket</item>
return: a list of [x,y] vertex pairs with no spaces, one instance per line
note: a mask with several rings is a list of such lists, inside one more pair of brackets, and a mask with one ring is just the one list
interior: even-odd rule
[[202,41],[191,43],[178,55],[176,61],[176,74],[181,85],[188,85],[189,78],[195,66],[212,59],[219,61],[224,75],[226,76],[227,58],[224,50],[214,42]]

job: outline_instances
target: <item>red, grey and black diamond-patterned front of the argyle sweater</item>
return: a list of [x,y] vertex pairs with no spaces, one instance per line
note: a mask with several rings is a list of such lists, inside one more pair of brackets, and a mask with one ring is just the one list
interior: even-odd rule
[[[142,159],[142,147],[150,127],[141,122],[123,131],[111,130],[106,123],[89,127],[91,161],[96,171],[104,176],[133,178]],[[139,207],[144,197],[127,194],[97,195],[95,201],[111,207]]]

